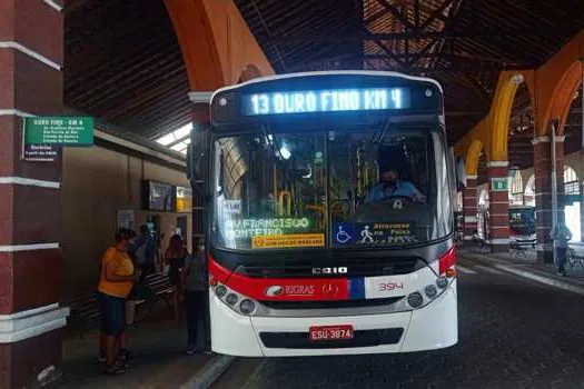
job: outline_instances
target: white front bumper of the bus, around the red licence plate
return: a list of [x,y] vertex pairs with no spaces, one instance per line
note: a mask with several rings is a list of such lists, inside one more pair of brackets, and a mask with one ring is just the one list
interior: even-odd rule
[[[428,306],[405,312],[248,317],[235,312],[211,293],[210,315],[212,350],[239,357],[410,352],[446,348],[458,341],[456,281]],[[339,325],[353,326],[354,341],[327,347],[327,341],[308,340],[310,327]]]

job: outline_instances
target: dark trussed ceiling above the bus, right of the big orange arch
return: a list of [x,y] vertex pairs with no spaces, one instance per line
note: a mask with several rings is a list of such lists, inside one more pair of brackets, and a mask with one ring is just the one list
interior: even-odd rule
[[278,72],[438,79],[453,142],[488,111],[501,70],[537,68],[584,28],[581,0],[235,1]]

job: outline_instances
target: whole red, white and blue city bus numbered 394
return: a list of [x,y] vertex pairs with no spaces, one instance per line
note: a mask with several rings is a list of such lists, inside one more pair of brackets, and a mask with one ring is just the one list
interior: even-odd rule
[[215,352],[457,342],[455,174],[438,82],[374,71],[254,79],[216,91],[210,127],[192,137]]

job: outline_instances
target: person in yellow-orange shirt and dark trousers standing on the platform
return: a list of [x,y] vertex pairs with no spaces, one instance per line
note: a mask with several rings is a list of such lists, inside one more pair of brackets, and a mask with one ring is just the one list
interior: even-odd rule
[[119,229],[116,232],[116,245],[106,250],[101,260],[98,298],[106,351],[103,371],[110,375],[123,372],[123,366],[117,360],[120,338],[126,329],[126,298],[130,293],[133,282],[139,279],[128,255],[132,238],[132,231]]

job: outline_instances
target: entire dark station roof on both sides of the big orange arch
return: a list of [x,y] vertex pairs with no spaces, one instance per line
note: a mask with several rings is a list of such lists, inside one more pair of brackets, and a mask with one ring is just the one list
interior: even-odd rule
[[[277,73],[373,69],[437,79],[451,143],[487,114],[502,70],[537,68],[584,29],[582,0],[235,3]],[[65,12],[66,104],[184,152],[189,86],[164,1],[69,0]],[[580,137],[578,113],[567,137]],[[509,124],[515,167],[533,164],[532,116],[519,88]]]

